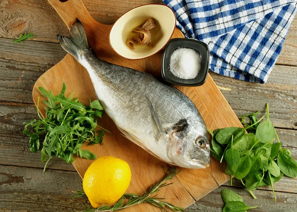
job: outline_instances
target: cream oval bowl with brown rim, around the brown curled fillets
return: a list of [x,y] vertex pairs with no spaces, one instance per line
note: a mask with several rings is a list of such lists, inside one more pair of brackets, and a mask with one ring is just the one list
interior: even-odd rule
[[[134,46],[131,50],[127,39],[132,35],[135,27],[145,23],[152,17],[156,23],[156,30],[150,30],[151,43],[155,46]],[[164,4],[146,4],[135,7],[123,14],[112,26],[109,43],[119,55],[128,59],[142,59],[159,52],[170,40],[175,29],[176,17],[173,10]]]

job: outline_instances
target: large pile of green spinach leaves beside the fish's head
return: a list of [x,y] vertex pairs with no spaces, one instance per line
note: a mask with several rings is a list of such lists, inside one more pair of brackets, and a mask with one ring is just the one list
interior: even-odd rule
[[[276,201],[273,184],[279,181],[283,175],[297,176],[297,162],[291,158],[291,151],[281,147],[278,135],[269,119],[269,107],[267,108],[267,120],[260,122],[256,115],[260,112],[246,114],[242,117],[242,123],[246,128],[228,127],[216,129],[209,133],[212,136],[211,155],[222,162],[226,160],[226,174],[240,179],[253,198],[252,190],[258,186],[269,185],[272,188]],[[249,117],[250,124],[245,122]],[[249,133],[246,134],[246,130]],[[273,143],[277,138],[277,143]]]

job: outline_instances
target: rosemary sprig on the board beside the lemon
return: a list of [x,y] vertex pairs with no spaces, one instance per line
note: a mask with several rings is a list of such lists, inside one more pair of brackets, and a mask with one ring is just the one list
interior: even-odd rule
[[[82,209],[82,211],[84,211],[84,212],[98,212],[98,211],[112,212],[112,211],[123,210],[128,207],[135,206],[137,204],[148,203],[155,207],[160,208],[161,210],[166,211],[166,208],[168,208],[174,212],[181,212],[181,211],[183,211],[182,208],[179,208],[179,207],[176,207],[170,203],[164,202],[163,201],[164,198],[158,198],[156,196],[151,196],[155,192],[159,191],[160,188],[172,184],[172,183],[166,183],[165,181],[171,180],[173,177],[175,177],[180,172],[180,170],[176,171],[176,168],[169,168],[168,170],[165,170],[165,171],[166,171],[166,175],[157,184],[151,185],[142,196],[140,196],[138,194],[124,194],[122,196],[122,198],[120,200],[118,200],[118,202],[116,204],[114,204],[112,206],[103,205],[97,209],[93,209],[91,207],[91,205],[88,204]],[[76,194],[76,196],[74,196],[72,198],[86,196],[84,191],[74,191],[74,193]],[[125,203],[124,203],[124,201],[125,201]]]

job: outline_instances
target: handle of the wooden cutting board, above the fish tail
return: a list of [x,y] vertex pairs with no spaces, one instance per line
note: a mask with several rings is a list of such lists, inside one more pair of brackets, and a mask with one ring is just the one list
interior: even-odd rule
[[[62,18],[68,29],[72,23],[78,18],[82,23],[94,21],[96,22],[82,0],[48,0],[50,5]],[[98,25],[98,22],[96,22]]]

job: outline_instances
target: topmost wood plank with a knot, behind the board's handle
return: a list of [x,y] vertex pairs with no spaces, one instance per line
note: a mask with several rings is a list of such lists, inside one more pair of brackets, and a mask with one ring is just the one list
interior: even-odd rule
[[[83,0],[92,17],[103,24],[112,24],[131,8],[162,0]],[[115,7],[116,5],[116,7]],[[67,27],[47,0],[4,0],[0,4],[0,37],[16,38],[20,33],[31,32],[35,41],[57,43],[56,34],[67,35]],[[291,24],[284,48],[277,64],[297,65],[297,18]]]

